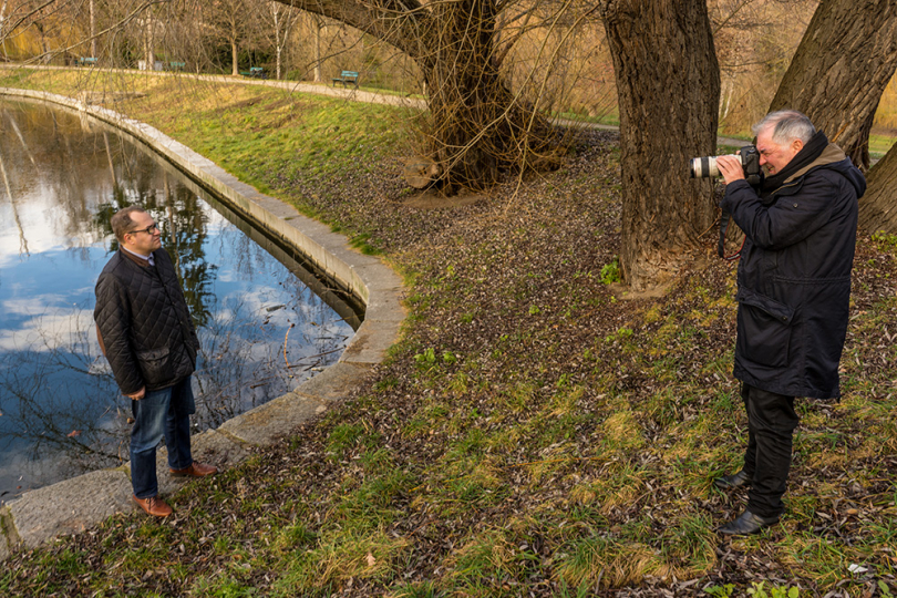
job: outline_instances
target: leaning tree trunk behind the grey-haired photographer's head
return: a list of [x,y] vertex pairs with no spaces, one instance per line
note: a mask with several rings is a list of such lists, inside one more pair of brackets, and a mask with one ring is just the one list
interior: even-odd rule
[[893,0],[823,0],[770,111],[804,112],[865,171],[873,117],[895,68]]

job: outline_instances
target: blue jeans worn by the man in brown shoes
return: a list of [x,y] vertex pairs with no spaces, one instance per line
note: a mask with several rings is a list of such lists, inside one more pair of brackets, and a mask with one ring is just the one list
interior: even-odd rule
[[158,494],[156,446],[165,437],[168,467],[183,470],[193,463],[190,455],[190,414],[196,412],[190,377],[173,386],[147,392],[131,401],[134,427],[131,429],[131,485],[134,496]]

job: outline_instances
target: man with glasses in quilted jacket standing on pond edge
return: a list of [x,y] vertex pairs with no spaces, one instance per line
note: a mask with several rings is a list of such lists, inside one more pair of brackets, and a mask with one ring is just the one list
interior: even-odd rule
[[137,206],[112,217],[118,251],[96,281],[96,336],[115,382],[131,399],[131,484],[150,515],[172,507],[158,496],[156,446],[165,437],[175,476],[217,470],[193,461],[189,416],[196,412],[190,375],[199,341],[172,259],[153,217]]

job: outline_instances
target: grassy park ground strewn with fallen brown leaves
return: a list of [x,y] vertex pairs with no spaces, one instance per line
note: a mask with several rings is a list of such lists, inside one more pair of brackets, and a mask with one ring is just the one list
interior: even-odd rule
[[616,135],[585,132],[558,172],[425,210],[400,177],[406,112],[143,79],[118,110],[401,271],[403,338],[343,405],[174,495],[169,520],[116,516],[19,554],[0,594],[897,591],[897,238],[858,241],[844,396],[798,401],[782,524],[723,539],[744,504],[712,486],[746,441],[734,268],[708,238],[662,297],[620,296]]

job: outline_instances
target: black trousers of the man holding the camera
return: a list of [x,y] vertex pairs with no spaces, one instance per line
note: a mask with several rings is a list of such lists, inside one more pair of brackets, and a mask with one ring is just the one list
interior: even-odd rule
[[794,396],[742,384],[741,398],[748,411],[744,471],[753,480],[748,511],[761,517],[779,517],[785,512],[782,496],[791,468],[792,437],[800,422]]

